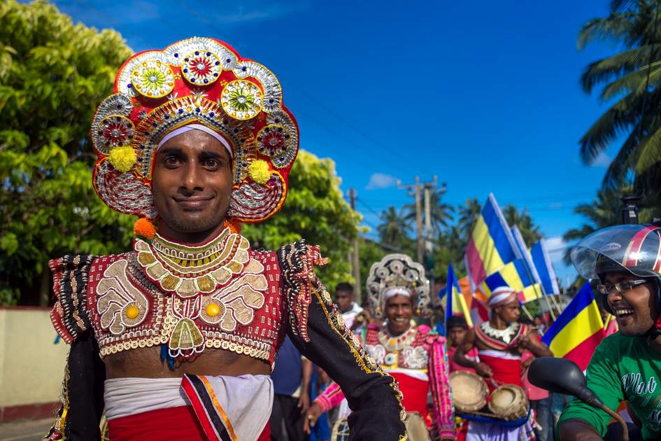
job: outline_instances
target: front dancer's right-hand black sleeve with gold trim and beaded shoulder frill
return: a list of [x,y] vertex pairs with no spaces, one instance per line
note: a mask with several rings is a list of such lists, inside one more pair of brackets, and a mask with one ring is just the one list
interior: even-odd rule
[[404,408],[397,381],[365,353],[344,325],[326,289],[313,275],[318,247],[297,242],[278,252],[289,314],[287,334],[342,388],[352,409],[349,439],[404,439]]

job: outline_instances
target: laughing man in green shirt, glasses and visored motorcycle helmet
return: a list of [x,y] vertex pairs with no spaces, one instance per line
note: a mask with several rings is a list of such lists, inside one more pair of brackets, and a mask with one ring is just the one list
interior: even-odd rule
[[[592,355],[588,387],[611,409],[628,402],[639,428],[632,430],[632,441],[660,440],[661,228],[604,228],[585,237],[571,251],[571,260],[585,279],[599,279],[597,291],[620,327]],[[574,400],[560,416],[557,439],[618,439],[619,424],[609,430],[609,421],[606,412]]]

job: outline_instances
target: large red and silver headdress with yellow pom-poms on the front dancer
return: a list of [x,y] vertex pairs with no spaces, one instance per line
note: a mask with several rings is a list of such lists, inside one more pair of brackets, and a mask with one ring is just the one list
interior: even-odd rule
[[94,189],[108,207],[156,218],[157,144],[190,124],[213,130],[231,150],[229,218],[260,222],[282,207],[299,130],[278,79],[262,64],[215,38],[187,38],[133,55],[118,71],[114,92],[99,104],[90,130],[99,155]]

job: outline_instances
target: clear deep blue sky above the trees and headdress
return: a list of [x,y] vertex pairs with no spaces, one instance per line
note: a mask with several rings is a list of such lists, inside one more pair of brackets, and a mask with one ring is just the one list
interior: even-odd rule
[[[265,64],[283,84],[301,148],[336,162],[369,225],[373,211],[410,202],[395,179],[436,175],[450,204],[493,192],[501,206],[526,208],[557,249],[617,151],[591,166],[578,156],[578,139],[606,109],[578,78],[616,48],[579,52],[576,36],[608,13],[608,0],[55,3],[74,22],[120,31],[136,51],[213,36]],[[572,274],[556,269],[563,282]]]

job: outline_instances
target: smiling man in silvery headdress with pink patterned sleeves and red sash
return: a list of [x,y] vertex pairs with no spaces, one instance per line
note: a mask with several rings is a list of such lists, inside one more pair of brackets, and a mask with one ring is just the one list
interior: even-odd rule
[[[446,339],[430,332],[429,326],[415,325],[412,320],[414,312],[422,317],[432,312],[424,267],[406,255],[387,255],[372,265],[367,295],[374,316],[380,321],[385,318],[381,326],[368,326],[364,338],[367,353],[399,382],[406,412],[422,416],[428,430],[438,434],[441,440],[454,440]],[[346,392],[341,384],[326,388],[308,411],[310,423],[314,424],[322,412],[339,405]],[[427,406],[428,393],[432,395],[431,410]],[[424,431],[424,439],[429,439],[427,430]],[[409,439],[422,439],[413,437],[412,432],[409,430]]]

